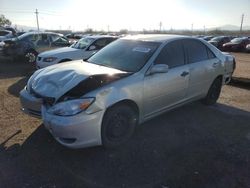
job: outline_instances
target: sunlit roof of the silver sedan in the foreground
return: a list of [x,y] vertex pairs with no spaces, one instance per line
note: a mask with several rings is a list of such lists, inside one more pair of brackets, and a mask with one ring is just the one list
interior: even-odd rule
[[190,38],[190,37],[184,35],[146,34],[146,35],[130,35],[124,37],[123,39],[165,42],[167,40],[177,39],[177,38]]

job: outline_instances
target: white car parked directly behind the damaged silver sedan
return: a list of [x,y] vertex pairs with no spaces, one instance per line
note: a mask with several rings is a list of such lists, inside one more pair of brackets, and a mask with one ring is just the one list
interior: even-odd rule
[[66,61],[88,59],[98,50],[116,39],[117,37],[104,35],[84,37],[70,47],[40,53],[36,60],[36,68],[40,69]]

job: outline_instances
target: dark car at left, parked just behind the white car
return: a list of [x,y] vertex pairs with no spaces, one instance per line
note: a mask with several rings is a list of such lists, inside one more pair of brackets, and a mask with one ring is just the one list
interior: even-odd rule
[[69,46],[69,40],[63,35],[52,32],[28,32],[16,38],[4,41],[3,54],[14,59],[24,58],[34,63],[40,52]]

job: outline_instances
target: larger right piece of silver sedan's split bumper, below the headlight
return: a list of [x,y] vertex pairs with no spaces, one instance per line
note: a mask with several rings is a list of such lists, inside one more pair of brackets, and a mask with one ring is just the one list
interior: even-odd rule
[[93,114],[81,112],[74,116],[57,116],[47,113],[42,105],[45,127],[62,145],[69,148],[84,148],[101,145],[101,123],[104,111]]

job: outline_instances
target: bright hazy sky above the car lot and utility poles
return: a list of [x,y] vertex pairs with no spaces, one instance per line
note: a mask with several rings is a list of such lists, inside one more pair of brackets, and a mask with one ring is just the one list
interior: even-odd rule
[[0,14],[13,24],[47,29],[194,29],[250,25],[250,0],[0,0]]

